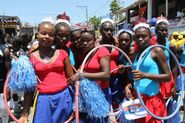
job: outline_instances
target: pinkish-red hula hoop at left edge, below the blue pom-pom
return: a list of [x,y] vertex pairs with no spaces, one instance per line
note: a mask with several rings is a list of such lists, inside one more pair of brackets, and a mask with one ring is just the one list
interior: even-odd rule
[[11,110],[10,110],[10,108],[8,107],[8,101],[7,101],[6,91],[7,91],[9,79],[10,79],[10,72],[8,73],[8,76],[7,76],[7,78],[6,78],[5,85],[4,85],[4,88],[3,88],[3,101],[4,101],[5,108],[6,108],[6,111],[8,112],[8,114],[9,114],[9,116],[10,116],[16,123],[19,123],[19,120],[13,115],[13,113],[12,113]]

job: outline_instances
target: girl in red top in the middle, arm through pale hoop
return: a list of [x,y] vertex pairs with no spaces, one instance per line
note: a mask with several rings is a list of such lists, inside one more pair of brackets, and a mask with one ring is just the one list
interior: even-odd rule
[[[95,33],[94,31],[82,31],[80,36],[80,46],[82,48],[83,56],[95,47]],[[73,75],[69,81],[75,81],[79,79],[79,73]],[[107,48],[101,47],[96,50],[88,59],[84,66],[84,72],[80,74],[80,77],[96,80],[105,94],[105,98],[108,102],[111,99],[111,93],[109,89],[109,77],[110,77],[110,53]],[[105,122],[109,122],[108,117],[104,119]],[[101,123],[100,119],[87,118],[87,123]]]

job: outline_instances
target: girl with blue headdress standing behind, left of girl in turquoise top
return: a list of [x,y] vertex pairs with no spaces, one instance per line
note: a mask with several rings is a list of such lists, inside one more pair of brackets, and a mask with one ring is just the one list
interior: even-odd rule
[[[118,32],[118,41],[119,41],[119,48],[123,50],[123,52],[130,58],[130,60],[133,60],[134,56],[134,48],[132,46],[133,43],[133,32],[129,29],[121,29]],[[128,83],[131,83],[131,71],[132,66],[130,66],[130,63],[126,59],[126,57],[123,54],[120,54],[119,61],[118,61],[118,71],[119,71],[119,81],[118,81],[118,92],[116,95],[118,95],[117,100],[117,108],[119,105],[126,101],[129,96],[126,96],[125,94],[125,87]],[[115,95],[115,96],[116,96]],[[112,98],[115,98],[112,97]],[[121,114],[119,117],[119,123],[133,123],[133,120],[127,120],[124,116],[124,113]]]

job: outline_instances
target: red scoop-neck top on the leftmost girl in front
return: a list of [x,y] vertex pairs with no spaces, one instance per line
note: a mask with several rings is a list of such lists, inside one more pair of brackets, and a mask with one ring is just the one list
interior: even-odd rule
[[53,63],[44,63],[34,55],[31,55],[30,61],[34,65],[36,74],[41,81],[37,86],[40,93],[56,93],[68,86],[64,71],[64,62],[67,57],[66,51],[59,50],[59,56]]

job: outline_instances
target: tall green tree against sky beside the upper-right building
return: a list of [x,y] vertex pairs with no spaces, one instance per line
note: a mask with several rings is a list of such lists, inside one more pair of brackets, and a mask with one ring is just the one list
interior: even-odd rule
[[119,1],[112,0],[112,2],[110,4],[110,12],[111,12],[111,15],[115,18],[116,22],[123,19],[123,15],[122,15],[121,11],[119,11],[120,9],[121,9],[121,6],[119,4]]

